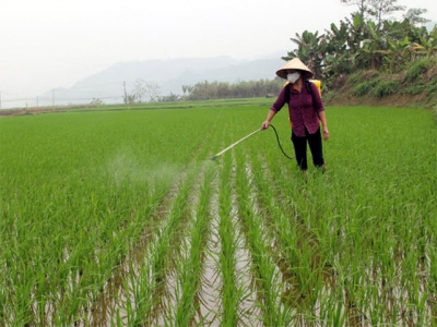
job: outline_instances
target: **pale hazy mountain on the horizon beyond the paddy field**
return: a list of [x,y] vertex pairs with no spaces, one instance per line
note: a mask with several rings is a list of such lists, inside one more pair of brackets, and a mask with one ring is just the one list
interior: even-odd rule
[[[285,56],[283,52],[282,56]],[[106,104],[122,102],[125,86],[132,93],[137,78],[160,85],[162,96],[182,94],[182,85],[198,82],[228,82],[272,80],[284,64],[281,56],[253,60],[236,60],[229,57],[186,58],[118,62],[108,69],[75,83],[71,88],[55,89],[40,96],[49,104],[88,104],[101,99]]]

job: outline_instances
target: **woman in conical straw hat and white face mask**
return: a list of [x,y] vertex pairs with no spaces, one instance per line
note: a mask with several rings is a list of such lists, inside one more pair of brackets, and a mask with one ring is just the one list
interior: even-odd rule
[[[270,121],[276,112],[288,102],[292,141],[297,165],[303,171],[308,169],[308,143],[312,155],[312,164],[324,171],[320,122],[324,141],[329,138],[329,131],[319,90],[314,83],[308,82],[314,74],[298,58],[294,58],[281,68],[276,75],[287,80],[290,83],[281,90],[276,101],[270,108],[267,119],[262,123],[262,130],[269,128]],[[290,88],[287,89],[287,87]]]

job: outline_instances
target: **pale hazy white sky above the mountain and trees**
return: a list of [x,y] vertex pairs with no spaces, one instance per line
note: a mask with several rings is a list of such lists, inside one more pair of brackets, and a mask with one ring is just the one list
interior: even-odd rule
[[[437,21],[436,0],[399,0]],[[3,100],[71,87],[119,61],[253,58],[294,49],[356,7],[340,0],[1,0]]]

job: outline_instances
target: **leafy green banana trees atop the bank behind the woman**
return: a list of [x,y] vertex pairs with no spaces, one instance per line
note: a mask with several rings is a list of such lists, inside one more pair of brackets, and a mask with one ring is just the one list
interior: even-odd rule
[[[383,20],[392,12],[404,10],[395,3],[397,0],[343,2],[357,4],[359,13],[345,17],[339,25],[332,23],[326,34],[305,31],[296,35],[292,40],[298,45],[298,49],[283,59],[299,57],[307,64],[312,64],[317,59],[316,72],[319,74],[321,71],[321,80],[331,89],[336,87],[331,83],[340,75],[367,70],[399,73],[412,62],[435,58],[437,28],[429,32],[415,25],[425,10],[411,11],[406,19],[399,22]],[[422,69],[423,63],[418,63],[406,78],[414,80]],[[387,90],[387,85],[382,85],[380,94]],[[357,87],[355,92],[358,95],[367,93],[366,85]]]

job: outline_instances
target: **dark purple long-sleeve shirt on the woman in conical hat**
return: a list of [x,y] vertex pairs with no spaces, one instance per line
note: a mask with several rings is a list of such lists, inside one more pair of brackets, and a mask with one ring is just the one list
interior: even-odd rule
[[[312,95],[305,84],[302,86],[300,92],[293,87],[290,92],[288,114],[293,122],[293,133],[299,137],[305,136],[305,128],[307,128],[309,134],[317,132],[320,124],[318,112],[324,110],[317,86],[314,83],[309,83],[309,85]],[[285,102],[285,87],[283,87],[270,110],[279,112]]]

